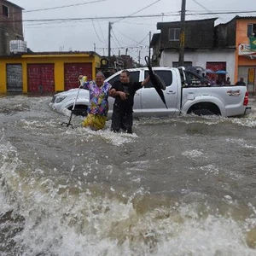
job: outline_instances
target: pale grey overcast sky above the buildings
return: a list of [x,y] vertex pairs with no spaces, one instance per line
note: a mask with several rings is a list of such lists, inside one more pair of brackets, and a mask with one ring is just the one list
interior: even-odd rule
[[[24,37],[27,46],[33,51],[90,51],[96,48],[98,54],[108,55],[108,23],[112,22],[111,54],[125,54],[125,49],[128,48],[128,54],[136,61],[140,53],[141,63],[144,62],[143,56],[148,54],[149,32],[152,35],[160,32],[156,29],[157,22],[180,20],[182,4],[182,0],[9,1],[24,9]],[[226,23],[236,15],[256,16],[256,3],[255,0],[187,0],[186,10],[186,20],[218,17],[218,24]],[[241,13],[212,14],[232,11]],[[211,15],[201,15],[206,13]],[[149,17],[131,18],[138,15]],[[125,16],[129,17],[114,18]],[[101,19],[102,17],[105,19]],[[74,18],[93,20],[71,20]],[[49,21],[45,21],[47,19]]]

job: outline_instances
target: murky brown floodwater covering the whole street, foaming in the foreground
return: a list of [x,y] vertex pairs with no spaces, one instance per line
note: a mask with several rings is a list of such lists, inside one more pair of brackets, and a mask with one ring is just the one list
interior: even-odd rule
[[256,255],[256,101],[244,118],[81,127],[0,96],[0,255]]

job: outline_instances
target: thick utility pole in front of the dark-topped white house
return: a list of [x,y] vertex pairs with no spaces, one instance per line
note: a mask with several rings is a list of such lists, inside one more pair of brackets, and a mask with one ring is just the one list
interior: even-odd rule
[[178,66],[184,66],[184,48],[185,48],[185,14],[186,0],[182,0],[181,18],[180,18],[180,36],[179,36],[179,55]]

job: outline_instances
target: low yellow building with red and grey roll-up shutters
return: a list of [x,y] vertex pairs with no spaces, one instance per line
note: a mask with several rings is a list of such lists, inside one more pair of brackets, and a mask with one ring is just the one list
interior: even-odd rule
[[51,93],[79,86],[78,77],[95,79],[96,52],[37,52],[0,56],[0,93]]

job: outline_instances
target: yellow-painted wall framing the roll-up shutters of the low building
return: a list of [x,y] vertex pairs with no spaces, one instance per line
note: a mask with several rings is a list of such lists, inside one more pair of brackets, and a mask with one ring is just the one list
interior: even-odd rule
[[64,90],[64,63],[91,63],[92,79],[96,77],[96,67],[100,65],[100,56],[89,54],[56,55],[19,55],[0,58],[0,93],[7,91],[7,64],[22,64],[23,92],[27,92],[27,64],[55,64],[55,91]]

